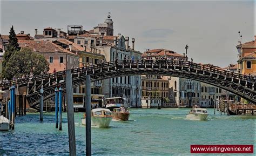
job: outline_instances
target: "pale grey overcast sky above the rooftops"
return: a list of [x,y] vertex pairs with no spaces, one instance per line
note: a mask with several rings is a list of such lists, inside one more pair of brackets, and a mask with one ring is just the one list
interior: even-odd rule
[[135,38],[135,49],[185,52],[193,62],[225,67],[237,63],[238,31],[242,43],[254,40],[254,1],[1,1],[1,34],[42,34],[46,27],[67,31],[68,25],[91,30],[111,12],[114,35]]

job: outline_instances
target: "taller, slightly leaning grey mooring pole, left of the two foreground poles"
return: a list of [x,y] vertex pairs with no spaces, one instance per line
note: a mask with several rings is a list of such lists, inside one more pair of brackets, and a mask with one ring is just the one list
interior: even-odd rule
[[66,70],[66,105],[69,129],[69,154],[76,155],[75,120],[73,107],[73,85],[71,70]]

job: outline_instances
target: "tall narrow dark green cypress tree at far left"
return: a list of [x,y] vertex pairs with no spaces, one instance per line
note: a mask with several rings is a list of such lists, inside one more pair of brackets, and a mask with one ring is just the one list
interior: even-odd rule
[[8,63],[10,57],[12,54],[15,53],[15,51],[19,51],[21,48],[19,48],[18,39],[16,38],[16,34],[14,31],[14,26],[11,26],[9,35],[9,43],[6,46],[6,50],[4,52],[4,59],[3,59],[3,70],[5,68],[5,65]]

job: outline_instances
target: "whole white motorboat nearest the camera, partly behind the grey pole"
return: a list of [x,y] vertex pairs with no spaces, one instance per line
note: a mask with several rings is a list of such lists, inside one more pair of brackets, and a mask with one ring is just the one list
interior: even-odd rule
[[[91,126],[99,128],[107,128],[113,116],[111,111],[106,108],[96,108],[91,110]],[[82,119],[82,125],[86,125],[85,114]]]

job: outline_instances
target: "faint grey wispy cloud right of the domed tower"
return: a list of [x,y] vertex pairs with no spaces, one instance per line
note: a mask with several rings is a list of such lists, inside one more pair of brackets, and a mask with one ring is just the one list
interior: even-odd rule
[[150,29],[142,32],[143,37],[167,37],[174,31],[171,29]]

